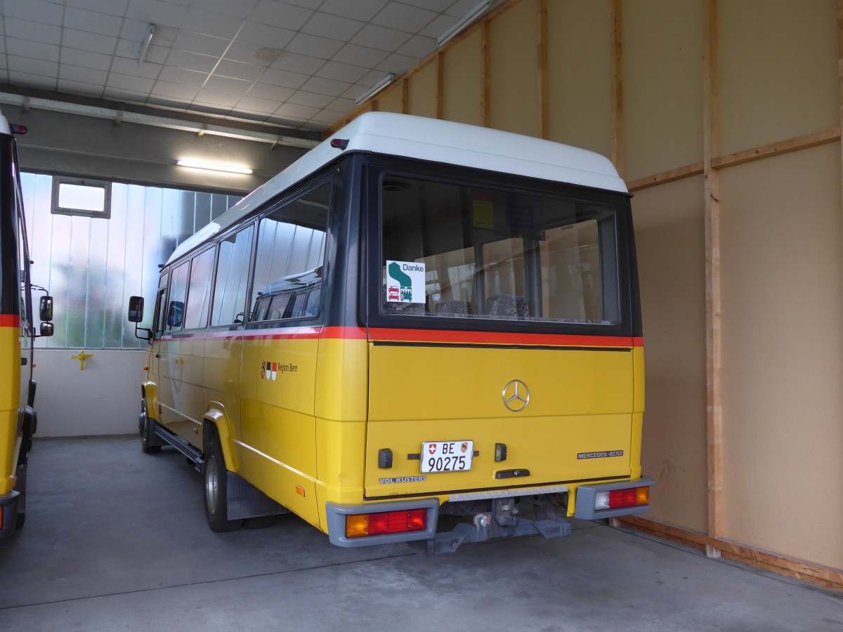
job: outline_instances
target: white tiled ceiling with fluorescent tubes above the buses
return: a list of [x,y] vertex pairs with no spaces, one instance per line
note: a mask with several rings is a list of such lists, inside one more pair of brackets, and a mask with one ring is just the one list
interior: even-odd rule
[[477,3],[0,0],[0,83],[322,131]]

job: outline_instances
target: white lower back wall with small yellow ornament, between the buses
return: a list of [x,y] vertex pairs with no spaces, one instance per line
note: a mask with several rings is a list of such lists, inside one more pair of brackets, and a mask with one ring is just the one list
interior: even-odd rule
[[146,351],[94,349],[79,370],[78,349],[36,349],[36,437],[137,432]]

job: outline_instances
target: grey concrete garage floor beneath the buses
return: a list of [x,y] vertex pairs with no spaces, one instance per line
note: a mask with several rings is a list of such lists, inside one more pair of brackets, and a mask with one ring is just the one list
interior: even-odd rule
[[843,597],[602,523],[338,549],[297,517],[212,533],[201,478],[136,437],[40,439],[0,543],[0,630],[835,630]]

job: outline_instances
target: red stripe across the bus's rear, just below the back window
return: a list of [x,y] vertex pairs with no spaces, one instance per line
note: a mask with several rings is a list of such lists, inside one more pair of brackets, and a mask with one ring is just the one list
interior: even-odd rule
[[438,331],[433,329],[369,329],[372,340],[389,342],[443,342],[448,344],[615,346],[629,348],[635,340],[627,336],[513,334],[497,331]]

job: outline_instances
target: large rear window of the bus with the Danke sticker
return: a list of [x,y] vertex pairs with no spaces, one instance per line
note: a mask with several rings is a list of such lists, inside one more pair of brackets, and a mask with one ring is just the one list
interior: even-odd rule
[[380,201],[385,314],[620,321],[613,206],[395,174]]

